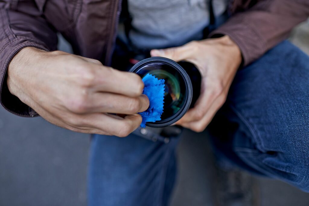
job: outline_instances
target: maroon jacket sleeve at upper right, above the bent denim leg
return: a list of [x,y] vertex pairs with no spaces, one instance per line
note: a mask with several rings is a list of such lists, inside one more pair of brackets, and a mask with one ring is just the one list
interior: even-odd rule
[[260,0],[249,10],[232,15],[210,37],[230,36],[239,46],[245,66],[286,39],[308,16],[308,0]]

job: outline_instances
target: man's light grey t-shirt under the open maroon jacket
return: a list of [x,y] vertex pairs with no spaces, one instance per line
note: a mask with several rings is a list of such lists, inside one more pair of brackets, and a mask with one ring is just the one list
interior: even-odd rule
[[[180,46],[201,40],[209,25],[209,0],[128,0],[132,16],[129,32],[136,48]],[[227,0],[213,0],[214,15],[226,10]]]

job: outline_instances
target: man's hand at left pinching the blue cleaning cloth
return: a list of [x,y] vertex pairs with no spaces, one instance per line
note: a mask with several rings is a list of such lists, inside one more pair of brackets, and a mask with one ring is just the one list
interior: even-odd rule
[[76,132],[125,137],[149,107],[137,74],[61,51],[23,48],[10,62],[7,85],[45,120]]

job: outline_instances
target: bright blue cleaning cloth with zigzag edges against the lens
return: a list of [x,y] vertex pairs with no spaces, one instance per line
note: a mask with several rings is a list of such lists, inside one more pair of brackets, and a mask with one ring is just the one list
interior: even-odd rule
[[142,78],[144,82],[143,94],[149,99],[149,107],[146,111],[140,112],[142,116],[141,127],[146,127],[146,122],[161,120],[164,103],[164,79],[158,79],[151,74],[146,74]]

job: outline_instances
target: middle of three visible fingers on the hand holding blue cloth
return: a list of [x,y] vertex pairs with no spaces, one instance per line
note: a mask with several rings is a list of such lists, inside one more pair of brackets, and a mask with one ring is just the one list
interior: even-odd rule
[[136,114],[145,111],[149,107],[149,99],[146,95],[127,97],[112,93],[95,93],[92,96],[91,107],[88,112],[104,112],[116,114]]

